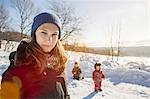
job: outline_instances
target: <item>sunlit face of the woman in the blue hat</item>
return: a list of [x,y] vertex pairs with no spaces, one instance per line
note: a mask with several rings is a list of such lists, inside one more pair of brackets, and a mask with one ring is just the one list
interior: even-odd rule
[[36,42],[44,52],[50,52],[56,45],[59,29],[52,23],[44,23],[35,32]]

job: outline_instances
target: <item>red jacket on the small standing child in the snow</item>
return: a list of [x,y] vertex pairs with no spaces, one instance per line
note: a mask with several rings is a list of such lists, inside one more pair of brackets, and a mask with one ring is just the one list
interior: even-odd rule
[[99,70],[99,71],[94,70],[92,78],[93,78],[94,82],[101,82],[102,78],[105,78],[105,76],[104,76],[104,74],[103,74],[103,72],[101,70]]

